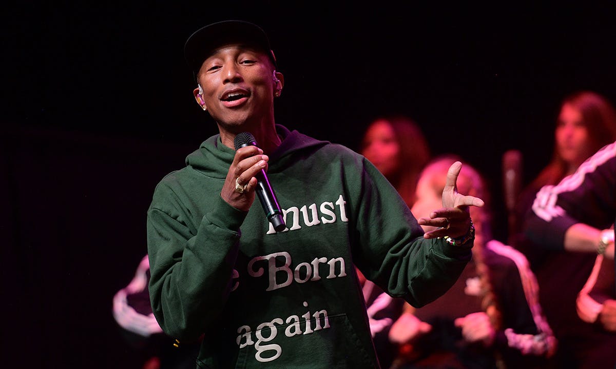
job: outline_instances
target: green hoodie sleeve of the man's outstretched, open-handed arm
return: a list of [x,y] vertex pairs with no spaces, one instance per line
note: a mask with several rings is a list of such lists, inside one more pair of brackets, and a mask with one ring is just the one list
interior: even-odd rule
[[354,254],[363,274],[415,307],[447,292],[471,260],[472,242],[453,247],[444,239],[424,239],[402,197],[367,160],[361,187]]

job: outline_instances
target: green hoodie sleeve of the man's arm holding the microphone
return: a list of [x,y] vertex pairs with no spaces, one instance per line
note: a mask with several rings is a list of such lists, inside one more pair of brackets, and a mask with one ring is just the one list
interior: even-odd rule
[[159,185],[147,214],[150,299],[163,331],[192,341],[221,315],[232,290],[246,213],[218,196],[191,229],[173,199],[172,190]]

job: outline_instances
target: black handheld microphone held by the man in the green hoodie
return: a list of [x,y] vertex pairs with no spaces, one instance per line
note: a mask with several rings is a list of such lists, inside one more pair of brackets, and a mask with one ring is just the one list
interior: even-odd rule
[[[244,146],[257,146],[257,141],[254,139],[253,135],[248,132],[241,132],[235,136],[235,140],[233,140],[233,146],[235,146],[235,150],[239,148],[243,148]],[[259,197],[259,201],[261,201],[261,206],[265,212],[265,216],[267,216],[267,220],[272,223],[274,226],[274,230],[276,232],[282,232],[286,228],[285,220],[282,217],[282,210],[280,209],[280,205],[278,204],[278,199],[276,198],[276,194],[274,193],[274,189],[272,185],[270,185],[269,180],[267,179],[267,175],[265,174],[265,170],[261,169],[261,172],[257,173],[255,176],[257,178],[257,188],[255,191],[257,192],[257,197]]]

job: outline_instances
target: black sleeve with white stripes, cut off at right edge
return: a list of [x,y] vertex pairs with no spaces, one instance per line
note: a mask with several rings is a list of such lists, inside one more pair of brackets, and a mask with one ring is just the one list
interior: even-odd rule
[[616,142],[604,146],[556,186],[537,192],[524,233],[548,250],[564,250],[575,223],[604,228],[616,221]]

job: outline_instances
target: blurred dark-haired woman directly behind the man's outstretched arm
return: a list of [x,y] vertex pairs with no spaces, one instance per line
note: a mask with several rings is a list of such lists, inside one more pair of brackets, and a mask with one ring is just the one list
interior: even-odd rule
[[[430,158],[428,142],[419,125],[401,114],[377,117],[365,129],[360,154],[383,173],[408,207],[412,207],[419,173]],[[410,308],[410,305],[384,293],[359,270],[357,274],[367,304],[376,353],[381,367],[387,369],[399,352],[399,346],[389,340],[389,330],[405,306]]]

